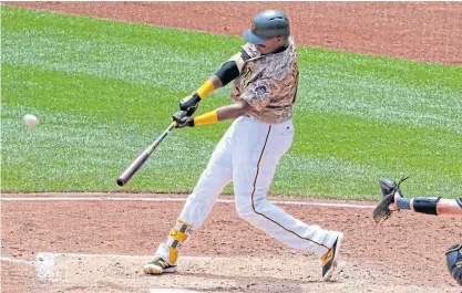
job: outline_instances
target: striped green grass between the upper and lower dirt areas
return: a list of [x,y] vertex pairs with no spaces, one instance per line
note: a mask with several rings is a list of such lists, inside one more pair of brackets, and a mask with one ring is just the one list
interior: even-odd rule
[[[4,6],[1,24],[3,192],[192,190],[230,122],[175,130],[126,187],[115,178],[243,40]],[[461,196],[462,67],[298,51],[273,195],[373,199],[379,178],[409,175],[408,195]],[[199,113],[228,103],[227,86]]]

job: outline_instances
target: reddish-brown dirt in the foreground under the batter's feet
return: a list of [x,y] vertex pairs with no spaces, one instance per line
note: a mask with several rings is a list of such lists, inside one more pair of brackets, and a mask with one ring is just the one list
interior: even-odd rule
[[[153,199],[168,195],[7,196],[17,201],[2,201],[2,255],[16,262],[2,262],[3,292],[147,292],[150,287],[207,292],[461,292],[448,274],[443,258],[445,249],[461,239],[462,223],[455,219],[400,212],[377,227],[370,208],[280,205],[307,223],[345,232],[342,269],[335,282],[322,283],[320,262],[314,255],[288,249],[250,227],[238,218],[233,203],[217,203],[182,250],[183,255],[206,259],[186,259],[179,264],[179,273],[150,278],[141,271],[146,259],[124,255],[151,255],[166,237],[183,201],[127,201],[134,196]],[[32,197],[86,200],[19,200]],[[121,200],[97,200],[107,197]],[[42,252],[64,254],[57,254],[53,269],[47,269],[53,275],[40,280],[37,263],[27,262],[39,262]]]

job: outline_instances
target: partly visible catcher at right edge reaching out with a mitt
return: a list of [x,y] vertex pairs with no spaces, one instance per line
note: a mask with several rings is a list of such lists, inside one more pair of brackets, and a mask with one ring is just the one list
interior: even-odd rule
[[[398,184],[390,179],[380,180],[383,199],[373,209],[373,219],[379,222],[387,220],[393,211],[411,210],[413,212],[433,216],[462,217],[462,198],[444,199],[440,197],[404,198],[400,184],[408,179],[403,177]],[[454,244],[446,250],[446,265],[451,276],[462,286],[462,245]]]

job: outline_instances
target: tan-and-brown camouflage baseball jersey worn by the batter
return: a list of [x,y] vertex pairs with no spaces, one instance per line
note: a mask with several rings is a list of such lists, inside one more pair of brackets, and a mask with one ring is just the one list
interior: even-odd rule
[[261,55],[256,45],[243,46],[249,59],[242,53],[232,60],[236,62],[239,76],[233,81],[232,100],[244,100],[254,109],[248,115],[267,124],[279,124],[292,116],[292,104],[297,95],[298,65],[292,36],[289,45],[279,53]]

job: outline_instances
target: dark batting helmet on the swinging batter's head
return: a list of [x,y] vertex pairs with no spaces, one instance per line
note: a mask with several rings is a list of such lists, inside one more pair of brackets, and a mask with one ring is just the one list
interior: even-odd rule
[[275,36],[290,35],[289,19],[279,10],[269,9],[256,14],[251,29],[244,32],[244,38],[253,44],[263,44]]

